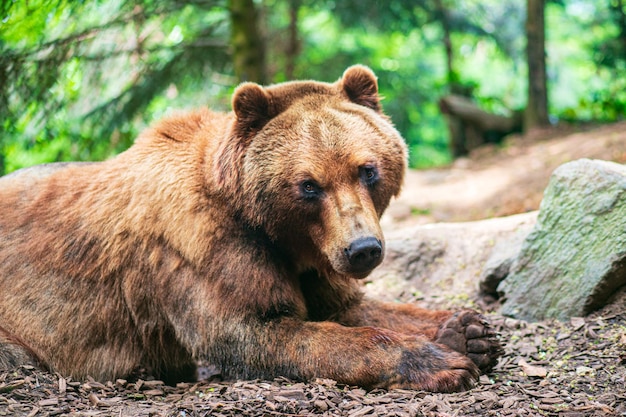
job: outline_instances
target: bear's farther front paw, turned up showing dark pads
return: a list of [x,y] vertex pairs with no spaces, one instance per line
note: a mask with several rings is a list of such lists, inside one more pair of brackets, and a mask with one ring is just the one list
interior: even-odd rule
[[483,373],[489,372],[503,353],[487,319],[473,310],[453,314],[437,331],[435,342],[467,355]]

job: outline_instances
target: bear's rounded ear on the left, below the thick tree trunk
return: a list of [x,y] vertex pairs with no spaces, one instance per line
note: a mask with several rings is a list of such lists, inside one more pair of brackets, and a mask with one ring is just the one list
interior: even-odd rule
[[241,136],[258,132],[271,119],[268,95],[258,84],[243,83],[233,94],[233,111]]

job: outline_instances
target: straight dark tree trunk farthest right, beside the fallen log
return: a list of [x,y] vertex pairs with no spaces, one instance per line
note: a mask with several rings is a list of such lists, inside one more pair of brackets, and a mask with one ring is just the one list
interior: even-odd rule
[[528,105],[524,114],[526,131],[550,124],[546,76],[545,0],[527,0],[527,9]]

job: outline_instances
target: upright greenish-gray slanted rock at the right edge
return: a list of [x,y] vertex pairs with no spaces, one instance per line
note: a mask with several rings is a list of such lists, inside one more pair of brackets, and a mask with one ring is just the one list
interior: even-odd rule
[[602,306],[626,285],[626,167],[581,159],[560,166],[539,218],[500,283],[501,312],[567,319]]

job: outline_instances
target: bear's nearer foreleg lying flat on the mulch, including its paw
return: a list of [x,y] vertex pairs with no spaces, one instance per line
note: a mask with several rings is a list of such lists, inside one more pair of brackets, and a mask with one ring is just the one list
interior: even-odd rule
[[229,377],[331,378],[365,388],[452,392],[470,388],[479,373],[446,346],[376,327],[284,317],[240,324],[237,334],[240,342],[232,333],[229,341],[237,357],[220,364]]

